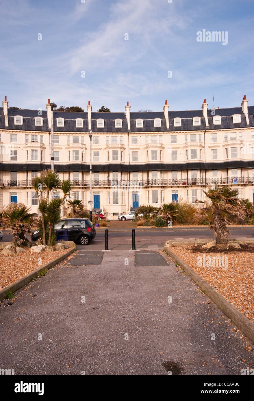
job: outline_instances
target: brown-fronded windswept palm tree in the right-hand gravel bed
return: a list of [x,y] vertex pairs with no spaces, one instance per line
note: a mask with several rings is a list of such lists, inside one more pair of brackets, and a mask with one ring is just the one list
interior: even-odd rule
[[229,185],[209,188],[207,192],[203,192],[207,199],[204,202],[196,201],[203,203],[203,206],[195,212],[195,221],[208,219],[209,229],[214,231],[216,244],[227,244],[229,231],[226,225],[233,219],[242,223],[247,209],[238,198],[238,190]]

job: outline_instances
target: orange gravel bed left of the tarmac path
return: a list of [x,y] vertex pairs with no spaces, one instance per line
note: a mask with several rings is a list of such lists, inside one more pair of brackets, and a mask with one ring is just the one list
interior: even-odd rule
[[17,253],[11,257],[1,257],[0,253],[0,290],[68,251],[70,248],[54,252],[44,250],[42,253],[31,253],[28,248],[26,252]]

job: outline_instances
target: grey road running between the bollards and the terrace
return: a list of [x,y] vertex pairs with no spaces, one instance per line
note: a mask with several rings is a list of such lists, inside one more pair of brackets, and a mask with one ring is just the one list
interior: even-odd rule
[[[230,229],[231,237],[239,238],[254,238],[254,229]],[[136,234],[136,249],[153,249],[153,247],[163,248],[164,243],[170,239],[180,238],[214,238],[213,232],[208,228],[202,229],[174,229],[168,228],[160,231],[135,231]],[[129,231],[112,232],[109,229],[109,249],[128,250],[132,246],[131,229]],[[105,249],[105,234],[98,232],[95,239],[89,245],[86,245],[90,250]],[[3,241],[11,241],[12,236],[4,232]],[[84,249],[84,245],[78,245],[78,249]]]

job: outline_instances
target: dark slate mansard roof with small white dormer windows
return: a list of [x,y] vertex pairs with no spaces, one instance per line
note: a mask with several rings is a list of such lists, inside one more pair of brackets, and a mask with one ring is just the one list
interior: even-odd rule
[[[232,115],[241,114],[241,123],[233,124]],[[23,125],[14,125],[14,116],[23,116]],[[164,118],[163,111],[150,111],[150,112],[130,112],[130,132],[162,132],[162,131],[197,131],[197,130],[225,130],[234,128],[254,127],[254,106],[248,107],[248,115],[250,124],[247,126],[245,115],[242,112],[242,107],[231,107],[225,109],[215,109],[215,115],[221,116],[221,124],[213,125],[213,116],[211,110],[208,109],[208,122],[209,127],[205,126],[205,118],[203,117],[202,110],[183,110],[183,111],[170,111],[169,116],[169,129],[166,128],[166,119]],[[41,117],[43,117],[43,126],[35,126],[34,117],[38,116],[38,110],[26,109],[8,109],[8,128],[5,126],[3,107],[0,107],[0,129],[9,130],[25,130],[25,131],[47,131],[49,132],[47,122],[47,111],[43,110]],[[64,118],[64,127],[56,126],[56,119],[58,117]],[[125,113],[93,113],[91,114],[91,130],[92,132],[128,132],[127,120]],[[174,118],[182,118],[182,126],[174,127]],[[201,125],[193,126],[193,117],[201,117]],[[84,127],[76,127],[76,118],[84,119]],[[104,119],[104,127],[97,128],[96,119]],[[122,128],[115,127],[115,119],[122,119]],[[136,128],[136,119],[143,119],[143,127]],[[154,127],[154,118],[162,119],[161,127]],[[89,132],[87,112],[66,112],[54,111],[54,132]]]

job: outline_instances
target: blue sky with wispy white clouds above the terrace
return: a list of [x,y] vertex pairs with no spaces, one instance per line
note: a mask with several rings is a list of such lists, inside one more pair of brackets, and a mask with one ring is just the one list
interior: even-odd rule
[[[84,0],[83,0],[84,1]],[[1,93],[9,106],[162,111],[254,104],[254,1],[0,0]],[[227,31],[228,44],[197,42]],[[42,40],[38,40],[41,33]],[[126,35],[129,40],[125,40]],[[85,71],[85,77],[82,77]],[[168,77],[172,71],[172,77]],[[84,74],[83,74],[84,75]]]

